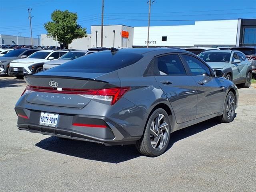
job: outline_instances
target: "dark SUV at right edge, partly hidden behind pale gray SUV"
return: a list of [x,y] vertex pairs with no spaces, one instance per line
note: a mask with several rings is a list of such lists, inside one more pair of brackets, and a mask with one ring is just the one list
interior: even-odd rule
[[256,75],[256,47],[233,47],[231,50],[238,50],[245,54],[252,65],[252,74]]

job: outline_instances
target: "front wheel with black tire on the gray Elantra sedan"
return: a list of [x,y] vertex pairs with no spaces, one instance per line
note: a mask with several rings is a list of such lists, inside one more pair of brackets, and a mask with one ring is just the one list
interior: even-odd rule
[[[229,116],[229,111],[231,108],[229,106],[229,100],[230,100],[230,97],[232,97],[232,99],[234,99],[234,104],[232,105],[232,114],[230,114]],[[230,108],[230,109],[229,109]],[[222,123],[229,123],[229,122],[232,122],[234,120],[234,116],[235,116],[235,110],[236,110],[236,97],[234,95],[233,92],[228,92],[228,95],[226,96],[226,100],[225,100],[225,103],[224,103],[224,110],[223,110],[223,114],[221,116],[219,116],[219,120],[220,122]],[[230,113],[231,113],[231,110],[230,110]]]

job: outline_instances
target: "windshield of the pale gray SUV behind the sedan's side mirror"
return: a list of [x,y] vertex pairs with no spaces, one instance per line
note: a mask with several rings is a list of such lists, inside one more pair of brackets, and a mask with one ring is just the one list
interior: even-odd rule
[[231,53],[228,52],[203,52],[198,55],[205,62],[229,62]]

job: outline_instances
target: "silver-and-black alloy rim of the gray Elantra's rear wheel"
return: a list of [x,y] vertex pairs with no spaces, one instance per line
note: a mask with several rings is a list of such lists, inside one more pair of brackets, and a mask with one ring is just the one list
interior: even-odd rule
[[150,141],[155,150],[161,150],[167,144],[169,137],[169,126],[166,123],[166,117],[158,114],[151,122]]

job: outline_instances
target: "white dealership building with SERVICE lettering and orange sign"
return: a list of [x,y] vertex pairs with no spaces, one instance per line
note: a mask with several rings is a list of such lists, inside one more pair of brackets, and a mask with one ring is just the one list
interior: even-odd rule
[[[148,27],[103,26],[103,47],[146,47]],[[40,44],[55,45],[41,34]],[[69,48],[86,50],[100,47],[101,26],[91,26],[91,34],[75,39]],[[256,46],[256,19],[196,21],[192,25],[150,26],[150,47],[234,47]]]

